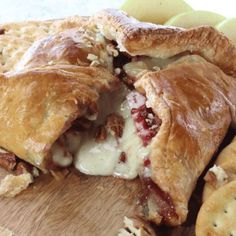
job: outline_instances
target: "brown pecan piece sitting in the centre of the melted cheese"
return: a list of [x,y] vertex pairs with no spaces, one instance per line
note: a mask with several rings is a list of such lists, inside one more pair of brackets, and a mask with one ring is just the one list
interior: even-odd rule
[[116,138],[122,137],[124,124],[124,118],[120,115],[112,113],[107,116],[106,129]]

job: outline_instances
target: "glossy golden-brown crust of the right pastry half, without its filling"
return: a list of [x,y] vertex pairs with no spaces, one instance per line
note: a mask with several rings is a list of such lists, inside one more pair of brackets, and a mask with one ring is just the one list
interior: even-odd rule
[[[178,217],[170,218],[170,225],[185,221],[196,181],[230,125],[226,100],[234,96],[236,104],[234,79],[198,58],[187,56],[135,84],[162,120],[151,143],[151,178],[174,202]],[[159,218],[149,219],[160,223]]]

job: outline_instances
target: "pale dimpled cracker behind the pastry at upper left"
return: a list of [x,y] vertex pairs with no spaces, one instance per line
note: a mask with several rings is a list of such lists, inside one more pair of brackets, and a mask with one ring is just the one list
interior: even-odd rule
[[14,70],[25,51],[36,41],[86,25],[88,17],[73,16],[63,20],[25,21],[0,25],[0,72]]

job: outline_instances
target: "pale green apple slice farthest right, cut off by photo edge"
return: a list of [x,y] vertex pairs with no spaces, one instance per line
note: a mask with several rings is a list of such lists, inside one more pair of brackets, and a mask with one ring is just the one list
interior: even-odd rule
[[216,25],[216,29],[225,34],[236,45],[236,18],[226,19]]

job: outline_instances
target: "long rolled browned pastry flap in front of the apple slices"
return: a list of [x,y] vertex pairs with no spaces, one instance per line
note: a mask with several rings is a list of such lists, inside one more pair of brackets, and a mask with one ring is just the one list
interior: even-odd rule
[[189,52],[236,76],[236,48],[212,27],[182,29],[142,23],[115,9],[101,11],[94,21],[106,38],[115,40],[120,50],[131,56],[168,58]]

